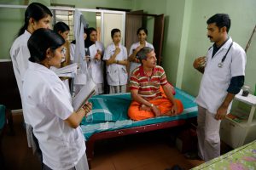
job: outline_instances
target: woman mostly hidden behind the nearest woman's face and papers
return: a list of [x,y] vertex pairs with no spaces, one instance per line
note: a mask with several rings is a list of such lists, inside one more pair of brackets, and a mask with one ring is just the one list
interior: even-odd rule
[[[69,26],[67,26],[64,22],[57,22],[54,26],[54,31],[61,35],[65,39],[65,58],[61,60],[61,67],[65,67],[67,65],[70,65],[70,42],[68,42],[67,37],[70,31]],[[65,83],[65,85],[68,88],[68,91],[70,91],[69,88],[69,77],[61,77],[61,80]]]

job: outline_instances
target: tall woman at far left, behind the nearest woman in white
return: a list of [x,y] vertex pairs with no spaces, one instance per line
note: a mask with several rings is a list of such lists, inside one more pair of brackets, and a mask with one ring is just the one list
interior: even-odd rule
[[[20,98],[22,108],[24,107],[23,90],[22,90],[22,78],[28,67],[28,58],[30,57],[29,50],[27,48],[27,40],[31,36],[33,31],[39,28],[50,28],[50,20],[52,13],[49,8],[41,3],[31,3],[26,8],[24,26],[20,28],[18,37],[15,39],[11,49],[10,56],[12,59],[15,78],[20,91]],[[26,111],[23,110],[24,121],[26,122],[26,135],[27,143],[29,147],[32,147],[37,152],[37,147],[32,139],[31,122],[28,121]]]

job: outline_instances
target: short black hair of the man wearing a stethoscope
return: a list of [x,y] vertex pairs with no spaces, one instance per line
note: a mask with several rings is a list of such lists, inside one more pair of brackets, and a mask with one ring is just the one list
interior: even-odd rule
[[231,20],[229,14],[214,14],[211,18],[207,20],[207,25],[212,23],[216,23],[218,29],[225,26],[227,28],[227,32],[230,31]]

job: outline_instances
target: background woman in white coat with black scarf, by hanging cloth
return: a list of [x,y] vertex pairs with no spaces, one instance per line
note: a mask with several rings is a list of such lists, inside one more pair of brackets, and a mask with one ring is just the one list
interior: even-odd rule
[[[95,28],[86,29],[88,38],[85,39],[85,48],[89,51],[87,60],[88,71],[93,82],[96,83],[96,94],[104,93],[104,79],[103,79],[103,61],[102,54],[104,47],[96,41],[97,32]],[[96,43],[97,42],[97,43]]]

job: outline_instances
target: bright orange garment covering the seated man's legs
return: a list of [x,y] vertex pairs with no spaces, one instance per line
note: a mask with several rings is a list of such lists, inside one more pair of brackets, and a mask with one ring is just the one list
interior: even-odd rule
[[[152,103],[153,105],[156,105],[159,108],[161,116],[166,116],[166,113],[168,111],[171,111],[172,109],[171,101],[166,98],[152,99],[152,100],[149,100],[149,102]],[[177,104],[177,114],[181,114],[183,112],[183,104],[178,99],[175,99],[175,102]],[[155,116],[153,111],[141,111],[140,106],[141,104],[137,103],[136,101],[131,102],[131,105],[128,109],[128,116],[132,120],[140,121],[140,120],[152,118]]]

